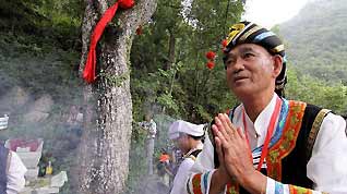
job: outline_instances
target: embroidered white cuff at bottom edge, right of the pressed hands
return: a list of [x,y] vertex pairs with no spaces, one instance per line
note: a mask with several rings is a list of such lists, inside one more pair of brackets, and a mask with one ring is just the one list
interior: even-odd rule
[[324,192],[313,191],[291,184],[283,184],[271,178],[267,178],[266,194],[326,194]]

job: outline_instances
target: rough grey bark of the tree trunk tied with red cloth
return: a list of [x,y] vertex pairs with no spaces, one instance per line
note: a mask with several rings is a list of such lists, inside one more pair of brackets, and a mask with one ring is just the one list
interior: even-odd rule
[[[85,0],[80,72],[84,68],[92,31],[115,2]],[[97,46],[98,78],[84,88],[85,131],[77,156],[77,193],[118,194],[124,190],[132,130],[130,49],[136,27],[146,23],[155,9],[156,0],[136,0],[132,9],[118,10]]]

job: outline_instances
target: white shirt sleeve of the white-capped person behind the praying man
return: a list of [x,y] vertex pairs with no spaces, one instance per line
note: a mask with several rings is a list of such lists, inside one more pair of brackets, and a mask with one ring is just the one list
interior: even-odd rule
[[[199,144],[195,149],[191,149],[188,153],[192,153],[196,149],[202,149],[203,144]],[[187,154],[190,155],[190,154]],[[190,173],[190,169],[194,165],[194,160],[191,157],[186,157],[184,160],[181,162],[180,167],[174,179],[174,185],[170,194],[184,194],[187,193],[186,183],[188,180],[188,175]]]

